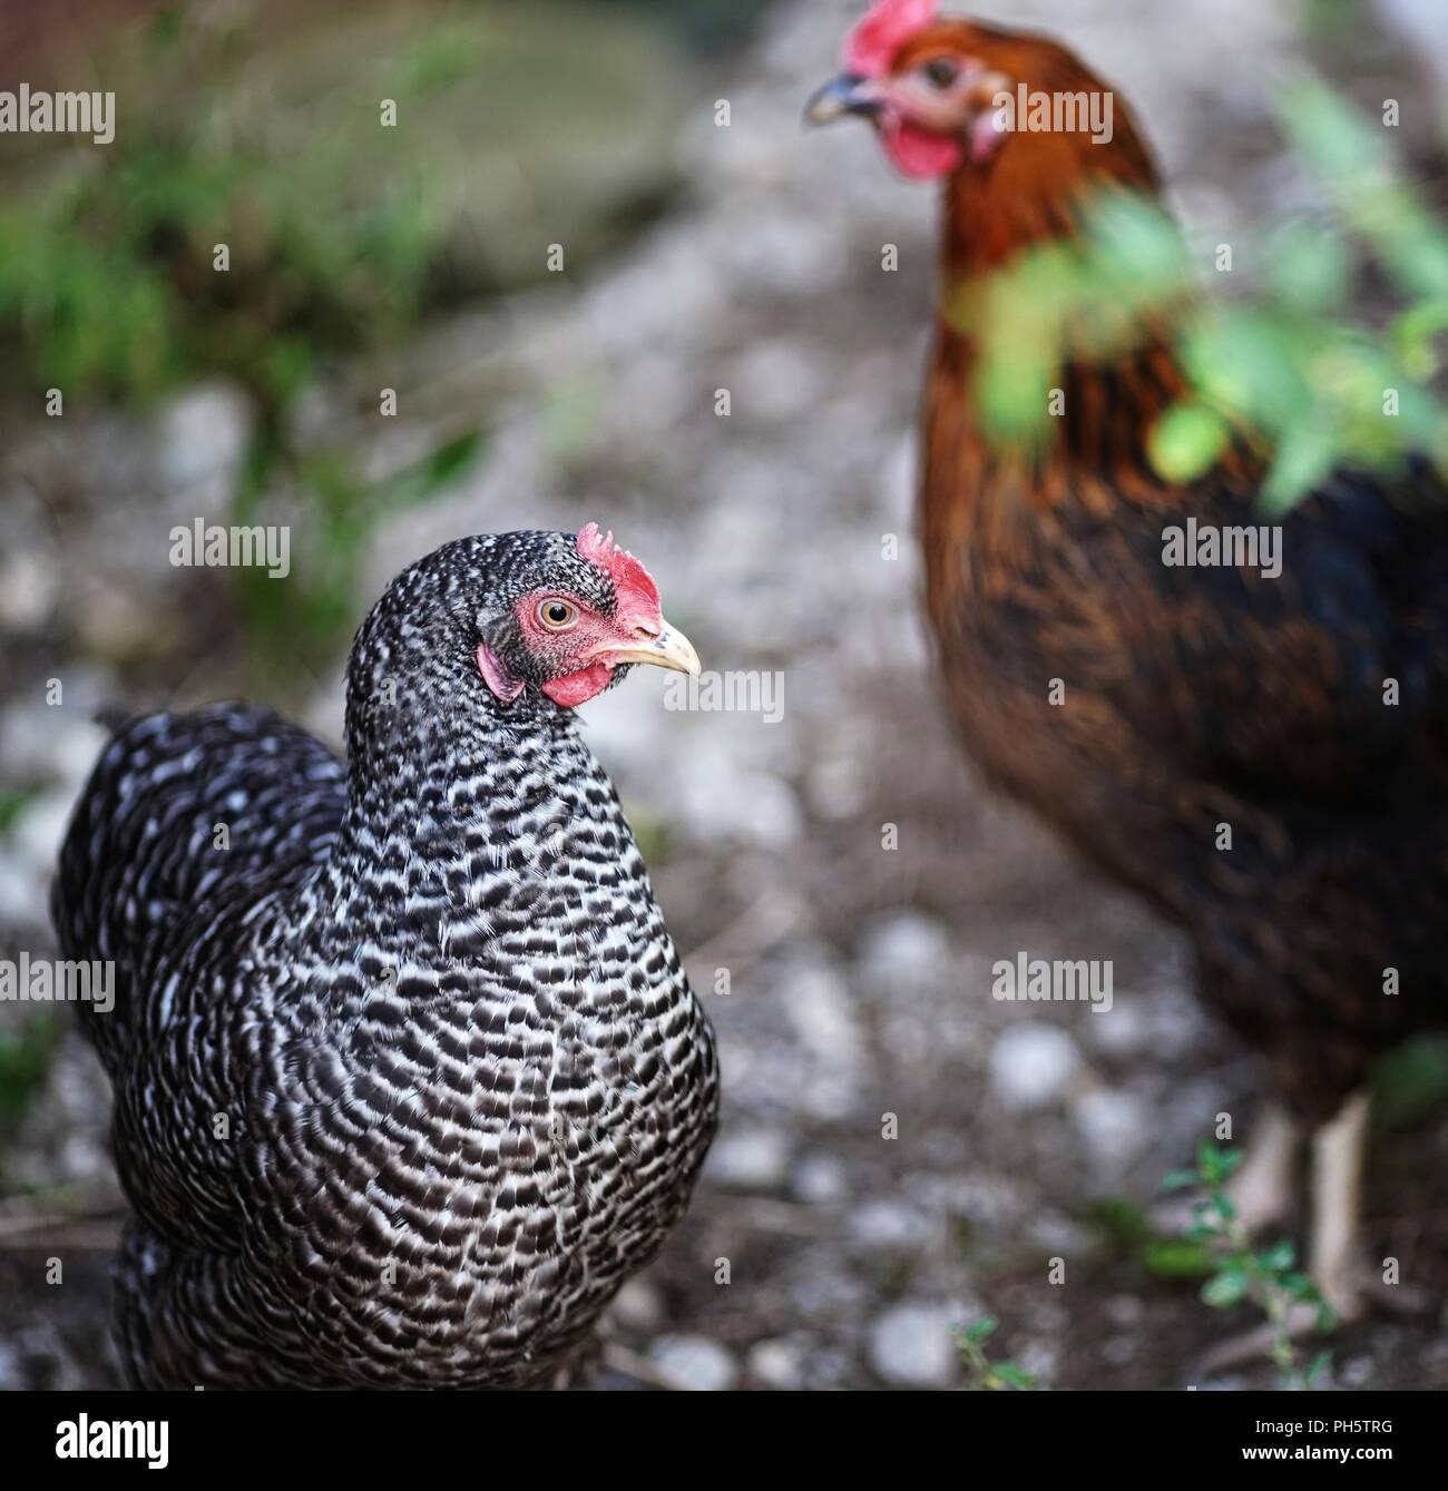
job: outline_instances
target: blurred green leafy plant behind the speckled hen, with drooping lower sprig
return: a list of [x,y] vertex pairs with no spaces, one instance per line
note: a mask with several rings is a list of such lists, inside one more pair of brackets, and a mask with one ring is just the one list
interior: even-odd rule
[[[303,392],[416,318],[446,218],[428,161],[406,131],[382,128],[374,103],[300,142],[248,128],[228,85],[254,21],[227,16],[169,6],[133,37],[139,76],[204,79],[206,107],[148,89],[110,146],[58,157],[0,206],[0,346],[12,382],[70,401],[146,407],[198,379],[245,391],[234,520],[267,520],[264,498],[286,474],[307,529],[291,583],[231,571],[254,665],[276,672],[344,635],[367,534],[459,474],[479,434],[449,435],[383,483],[358,477],[347,452],[295,447]],[[465,75],[477,45],[447,18],[421,28],[395,69],[398,110]],[[359,183],[362,152],[376,170]]]

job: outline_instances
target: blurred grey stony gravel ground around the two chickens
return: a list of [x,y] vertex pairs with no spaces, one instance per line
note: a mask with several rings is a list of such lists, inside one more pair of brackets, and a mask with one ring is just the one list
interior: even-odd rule
[[[707,668],[781,680],[777,719],[671,710],[665,680],[641,677],[586,711],[705,992],[726,1093],[686,1224],[613,1312],[635,1376],[599,1381],[950,1387],[950,1327],[989,1312],[998,1354],[1053,1387],[1180,1387],[1247,1321],[1148,1273],[1132,1217],[1217,1114],[1250,1129],[1260,1074],[1197,1011],[1180,941],[984,796],[944,726],[910,538],[934,200],[863,131],[798,125],[850,10],[786,7],[707,81],[680,140],[692,188],[617,262],[434,328],[310,417],[334,423],[355,388],[404,391],[407,417],[367,437],[379,468],[459,409],[491,425],[465,486],[377,535],[368,596],[458,532],[596,517],[646,558]],[[1303,58],[1291,13],[1193,7],[1190,46],[1178,7],[1150,0],[1011,18],[1053,25],[1121,85],[1215,243],[1302,194],[1265,106]],[[1421,92],[1387,34],[1354,37],[1354,85]],[[0,947],[49,945],[45,881],[98,743],[89,710],[237,686],[215,579],[170,570],[164,534],[219,517],[242,437],[237,400],[207,388],[145,428],[78,413],[64,438],[10,441],[0,781],[40,790],[0,838]],[[43,702],[51,677],[63,708]],[[307,692],[336,738],[340,677]],[[1111,960],[1109,1014],[990,999],[992,963],[1019,950]],[[104,1079],[67,1035],[4,1154],[0,1384],[115,1381],[104,1121]],[[1441,1106],[1379,1135],[1367,1199],[1373,1248],[1439,1302],[1445,1151]],[[25,1232],[37,1214],[45,1230]],[[64,1288],[40,1282],[57,1254]],[[1441,1311],[1342,1331],[1329,1381],[1448,1387]]]

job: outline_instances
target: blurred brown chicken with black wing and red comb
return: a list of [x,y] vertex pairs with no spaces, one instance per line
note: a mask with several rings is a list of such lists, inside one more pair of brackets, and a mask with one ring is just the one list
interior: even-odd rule
[[1078,98],[1078,118],[1109,94],[1053,40],[881,0],[807,115],[868,119],[899,170],[944,186],[920,535],[951,708],[993,784],[1186,929],[1200,996],[1274,1078],[1242,1217],[1288,1211],[1311,1135],[1311,1266],[1351,1317],[1370,1282],[1366,1078],[1448,1020],[1445,494],[1420,468],[1342,471],[1281,522],[1279,571],[1168,562],[1190,520],[1265,522],[1269,453],[1242,435],[1205,477],[1154,473],[1153,423],[1186,388],[1169,327],[1068,359],[1044,444],[989,441],[984,291],[1035,246],[1078,245],[1093,194],[1159,191],[1118,94],[1098,143],[1007,128],[1022,85]]

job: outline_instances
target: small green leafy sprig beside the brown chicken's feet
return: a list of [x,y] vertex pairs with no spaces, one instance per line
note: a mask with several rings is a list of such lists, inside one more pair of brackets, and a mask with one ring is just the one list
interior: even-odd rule
[[1332,1330],[1336,1318],[1312,1279],[1296,1267],[1291,1242],[1253,1246],[1238,1218],[1236,1205],[1227,1194],[1227,1181],[1241,1161],[1239,1150],[1223,1150],[1203,1139],[1197,1145],[1196,1166],[1172,1170],[1162,1188],[1172,1191],[1200,1187],[1205,1191],[1205,1199],[1193,1208],[1194,1220],[1184,1233],[1184,1241],[1203,1243],[1211,1249],[1214,1267],[1200,1287],[1202,1302],[1212,1309],[1256,1305],[1271,1327],[1269,1355],[1282,1387],[1309,1388],[1321,1378],[1332,1355],[1321,1351],[1302,1364],[1293,1339],[1293,1314],[1299,1306],[1311,1306],[1317,1311],[1317,1325],[1323,1331]]

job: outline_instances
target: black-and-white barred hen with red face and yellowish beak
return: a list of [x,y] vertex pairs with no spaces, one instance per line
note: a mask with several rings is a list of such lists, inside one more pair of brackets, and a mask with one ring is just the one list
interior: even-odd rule
[[134,1215],[143,1387],[550,1381],[689,1200],[713,1036],[573,708],[698,671],[592,525],[464,538],[356,637],[347,762],[264,710],[125,726],[61,851]]

